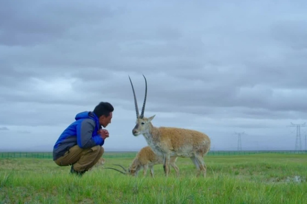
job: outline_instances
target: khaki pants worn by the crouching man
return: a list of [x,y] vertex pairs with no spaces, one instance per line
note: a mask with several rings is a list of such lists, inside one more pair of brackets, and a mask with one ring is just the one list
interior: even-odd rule
[[65,152],[64,156],[55,160],[55,163],[59,166],[73,165],[77,172],[87,171],[98,162],[103,152],[103,147],[99,145],[89,149],[82,149],[75,145]]

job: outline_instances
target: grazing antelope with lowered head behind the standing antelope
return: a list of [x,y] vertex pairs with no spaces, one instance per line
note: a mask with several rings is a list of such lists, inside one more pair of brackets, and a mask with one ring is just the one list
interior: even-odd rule
[[[169,164],[175,169],[177,176],[179,176],[179,168],[175,164],[177,161],[177,157],[170,157]],[[124,168],[122,165],[114,164],[117,166],[120,166],[123,168],[124,172],[114,169],[118,172],[121,172],[122,174],[127,174],[131,176],[138,176],[138,172],[143,168],[143,176],[146,176],[147,169],[150,169],[150,175],[153,177],[153,166],[156,164],[163,164],[164,160],[162,157],[158,157],[153,150],[150,148],[150,146],[143,147],[137,155],[134,157],[132,163],[130,164],[128,170]]]

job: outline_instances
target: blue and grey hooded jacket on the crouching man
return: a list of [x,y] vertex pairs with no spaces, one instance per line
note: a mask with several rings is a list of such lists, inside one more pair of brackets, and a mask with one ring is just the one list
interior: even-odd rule
[[56,141],[53,147],[53,161],[63,156],[74,145],[87,149],[104,144],[103,138],[97,134],[101,126],[94,112],[80,112],[75,119],[76,121],[70,124]]

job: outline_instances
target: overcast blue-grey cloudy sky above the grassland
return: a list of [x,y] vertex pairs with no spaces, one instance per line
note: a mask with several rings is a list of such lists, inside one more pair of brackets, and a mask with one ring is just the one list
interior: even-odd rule
[[[235,3],[234,3],[235,2]],[[212,150],[295,149],[307,122],[307,2],[0,2],[0,150],[52,151],[75,115],[114,105],[106,151],[155,126],[200,130]],[[301,128],[305,149],[307,127]]]

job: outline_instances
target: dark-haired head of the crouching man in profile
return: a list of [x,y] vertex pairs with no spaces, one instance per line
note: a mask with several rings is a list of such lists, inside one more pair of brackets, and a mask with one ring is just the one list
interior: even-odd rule
[[100,102],[94,109],[95,115],[99,119],[99,124],[103,127],[107,127],[111,123],[112,112],[114,111],[113,106],[108,102]]

